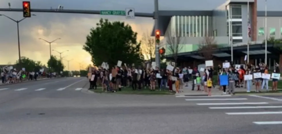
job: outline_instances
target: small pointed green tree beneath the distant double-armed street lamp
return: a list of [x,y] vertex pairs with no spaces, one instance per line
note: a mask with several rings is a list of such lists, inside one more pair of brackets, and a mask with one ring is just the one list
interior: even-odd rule
[[51,55],[51,58],[47,62],[48,67],[51,72],[60,73],[64,70],[65,66],[61,60],[58,60],[54,55]]

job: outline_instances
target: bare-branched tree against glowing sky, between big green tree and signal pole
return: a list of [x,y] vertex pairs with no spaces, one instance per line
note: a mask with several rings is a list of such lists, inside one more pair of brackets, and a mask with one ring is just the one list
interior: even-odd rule
[[150,62],[153,62],[153,58],[155,58],[155,41],[148,33],[143,34],[141,48],[146,58],[150,60]]

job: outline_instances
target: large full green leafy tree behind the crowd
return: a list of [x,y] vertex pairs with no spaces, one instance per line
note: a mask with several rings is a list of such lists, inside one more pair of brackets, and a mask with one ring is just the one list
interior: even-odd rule
[[83,45],[83,49],[92,56],[95,66],[108,62],[112,67],[118,60],[126,64],[140,64],[143,61],[140,43],[136,41],[137,33],[132,31],[131,26],[102,18],[96,25],[96,28],[90,30]]

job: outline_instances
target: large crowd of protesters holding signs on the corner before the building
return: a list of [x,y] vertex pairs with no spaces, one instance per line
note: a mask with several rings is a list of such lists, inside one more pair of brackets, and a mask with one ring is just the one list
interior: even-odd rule
[[[218,73],[218,83],[214,82],[213,75]],[[170,92],[181,93],[184,86],[188,86],[188,81],[192,81],[192,90],[197,88],[197,91],[207,92],[211,95],[211,89],[216,84],[220,85],[220,75],[228,75],[228,84],[220,85],[219,90],[222,90],[222,94],[233,93],[235,94],[235,88],[247,89],[247,92],[251,91],[251,85],[256,85],[256,92],[260,92],[264,87],[268,91],[268,79],[253,79],[244,80],[245,75],[253,74],[255,72],[268,73],[268,67],[265,64],[259,64],[254,66],[246,64],[245,66],[235,67],[230,64],[229,68],[222,68],[218,65],[218,68],[206,67],[202,71],[197,67],[191,69],[186,68],[174,68],[168,70],[167,68],[154,67],[127,67],[127,66],[115,66],[111,69],[105,69],[102,67],[92,68],[88,73],[90,82],[89,89],[97,89],[97,84],[102,85],[103,91],[121,91],[122,87],[132,87],[132,90],[142,90],[148,88],[151,91],[169,89]],[[276,64],[274,70],[276,73],[280,73],[279,65]],[[92,79],[91,79],[92,78]],[[272,79],[273,91],[277,91],[278,79]],[[173,89],[173,86],[174,89]],[[228,90],[228,91],[226,91]]]

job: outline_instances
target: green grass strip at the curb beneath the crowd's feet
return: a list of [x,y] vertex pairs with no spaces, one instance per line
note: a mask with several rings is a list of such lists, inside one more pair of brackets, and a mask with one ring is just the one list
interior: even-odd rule
[[[102,88],[98,88],[98,89],[92,89],[91,91],[94,91],[95,93],[113,93],[113,92],[105,92],[105,91],[102,91]],[[160,94],[160,95],[173,95],[175,94],[174,92],[169,92],[168,89],[166,90],[162,90],[162,91],[159,91],[159,88],[156,88],[155,91],[151,91],[150,89],[141,89],[140,91],[139,90],[132,90],[132,87],[123,87],[121,88],[121,91],[117,91],[117,92],[114,92],[114,93],[121,93],[121,94],[153,94],[153,95],[156,95],[156,94]]]

